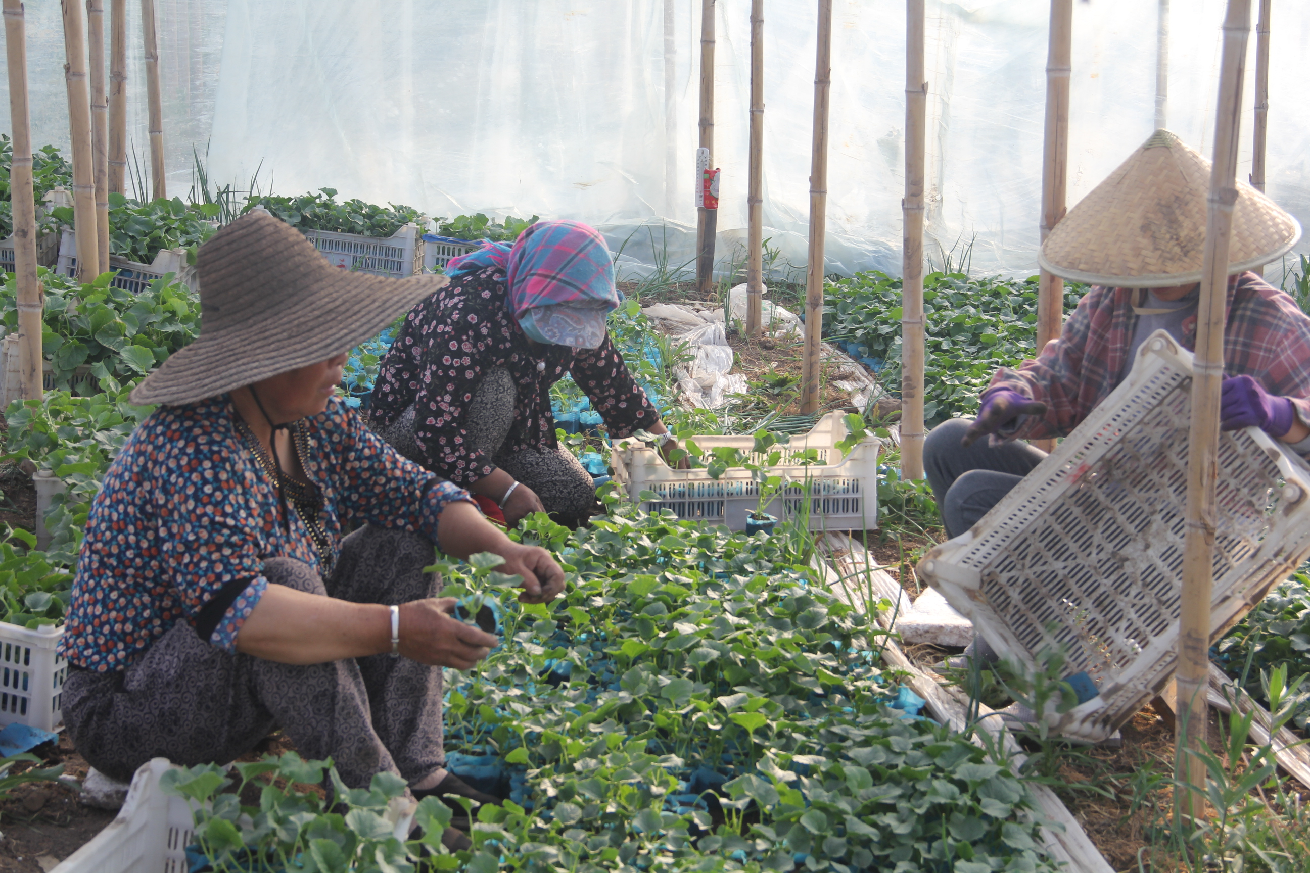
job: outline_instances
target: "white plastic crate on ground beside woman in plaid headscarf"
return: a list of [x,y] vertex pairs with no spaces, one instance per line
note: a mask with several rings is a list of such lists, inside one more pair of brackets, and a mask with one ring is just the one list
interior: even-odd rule
[[[837,442],[846,436],[841,412],[819,419],[810,433],[791,437],[777,467],[791,484],[766,508],[779,520],[794,518],[808,500],[810,530],[866,530],[878,526],[878,450],[882,441],[867,437],[845,458]],[[751,436],[692,437],[702,452],[717,448],[751,449]],[[781,448],[781,446],[778,446]],[[794,452],[816,449],[819,463],[803,466]],[[652,512],[672,509],[679,518],[727,525],[745,530],[747,513],[758,505],[758,484],[749,470],[731,469],[718,479],[706,470],[673,470],[659,452],[635,438],[617,440],[610,453],[614,480],[634,501],[642,491],[654,491],[658,501],[643,503]]]

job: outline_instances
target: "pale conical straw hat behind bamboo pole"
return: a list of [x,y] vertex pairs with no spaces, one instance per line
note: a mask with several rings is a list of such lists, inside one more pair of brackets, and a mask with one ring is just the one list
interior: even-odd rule
[[[1285,255],[1301,225],[1250,185],[1238,183],[1229,274]],[[1074,281],[1167,288],[1201,280],[1210,162],[1169,131],[1141,148],[1060,220],[1038,263]]]

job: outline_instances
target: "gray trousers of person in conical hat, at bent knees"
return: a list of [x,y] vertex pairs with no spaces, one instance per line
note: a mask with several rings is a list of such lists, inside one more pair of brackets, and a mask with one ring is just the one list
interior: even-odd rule
[[951,419],[924,438],[924,472],[947,537],[972,527],[1047,457],[1018,440],[990,446],[982,437],[964,448],[960,440],[971,424],[973,419]]

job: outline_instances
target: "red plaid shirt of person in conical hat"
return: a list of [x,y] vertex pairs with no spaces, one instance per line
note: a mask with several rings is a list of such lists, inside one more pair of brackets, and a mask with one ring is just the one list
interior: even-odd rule
[[[1134,291],[1093,285],[1060,339],[1047,343],[1038,360],[996,372],[988,391],[1007,387],[1047,404],[1041,418],[1020,416],[1006,438],[1068,436],[1115,390],[1137,327]],[[1310,317],[1254,272],[1229,281],[1226,312],[1225,374],[1244,373],[1271,394],[1290,398],[1297,416],[1310,425]],[[1196,321],[1193,314],[1183,322],[1182,344],[1188,351],[1196,348]]]

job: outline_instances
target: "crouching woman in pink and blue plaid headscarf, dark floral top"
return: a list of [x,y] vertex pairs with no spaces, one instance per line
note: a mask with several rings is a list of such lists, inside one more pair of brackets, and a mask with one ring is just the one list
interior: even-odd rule
[[665,433],[605,332],[618,306],[605,241],[578,221],[538,221],[512,245],[452,260],[447,275],[383,359],[369,423],[510,526],[532,512],[586,522],[596,490],[555,440],[550,386],[571,373],[610,437]]

